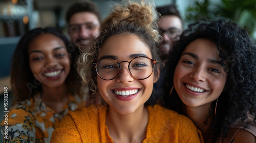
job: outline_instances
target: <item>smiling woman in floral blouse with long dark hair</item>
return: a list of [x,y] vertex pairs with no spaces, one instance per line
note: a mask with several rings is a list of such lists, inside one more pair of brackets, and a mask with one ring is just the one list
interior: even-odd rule
[[19,40],[11,65],[12,106],[2,121],[4,142],[50,142],[68,111],[84,106],[75,51],[56,28],[36,28]]

